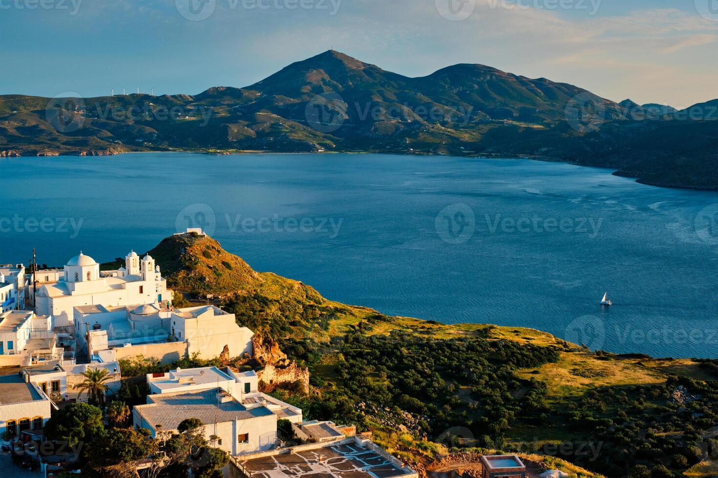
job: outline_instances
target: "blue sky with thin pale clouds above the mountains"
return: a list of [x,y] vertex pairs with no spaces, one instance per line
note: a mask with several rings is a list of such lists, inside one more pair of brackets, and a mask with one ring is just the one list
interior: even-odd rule
[[0,0],[0,94],[196,95],[327,49],[480,63],[687,107],[718,97],[718,0]]

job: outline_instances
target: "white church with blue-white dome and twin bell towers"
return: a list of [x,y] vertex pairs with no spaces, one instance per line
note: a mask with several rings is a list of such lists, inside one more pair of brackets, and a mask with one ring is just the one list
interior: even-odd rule
[[63,270],[62,277],[42,285],[36,297],[37,314],[52,315],[56,328],[73,326],[74,307],[172,302],[172,290],[167,289],[167,281],[149,255],[139,259],[131,251],[125,257],[125,267],[100,272],[100,264],[80,251]]

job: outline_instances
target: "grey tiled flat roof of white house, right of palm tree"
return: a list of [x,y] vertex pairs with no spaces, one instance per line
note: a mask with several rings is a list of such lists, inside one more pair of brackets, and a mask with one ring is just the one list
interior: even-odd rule
[[160,393],[147,397],[152,403],[138,405],[134,409],[141,418],[157,431],[161,424],[162,431],[176,430],[185,419],[200,419],[202,424],[246,420],[258,416],[271,415],[269,408],[260,406],[248,410],[236,400],[217,403],[217,388],[197,392]]

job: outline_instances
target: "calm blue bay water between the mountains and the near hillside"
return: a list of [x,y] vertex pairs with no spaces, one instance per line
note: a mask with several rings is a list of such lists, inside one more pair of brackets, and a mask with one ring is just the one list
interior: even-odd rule
[[255,269],[387,314],[718,357],[718,194],[610,172],[426,156],[7,158],[0,261],[27,263],[32,247],[51,266],[80,249],[107,261],[192,224]]

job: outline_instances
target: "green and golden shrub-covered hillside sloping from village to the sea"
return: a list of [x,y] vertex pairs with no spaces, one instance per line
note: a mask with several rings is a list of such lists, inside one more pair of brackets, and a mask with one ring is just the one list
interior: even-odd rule
[[255,272],[197,234],[149,254],[175,290],[202,302],[221,295],[212,300],[238,323],[309,367],[308,395],[278,392],[305,418],[357,424],[417,466],[486,450],[537,454],[579,476],[589,473],[573,465],[609,477],[709,476],[714,466],[718,360],[613,355],[538,330],[389,317]]

